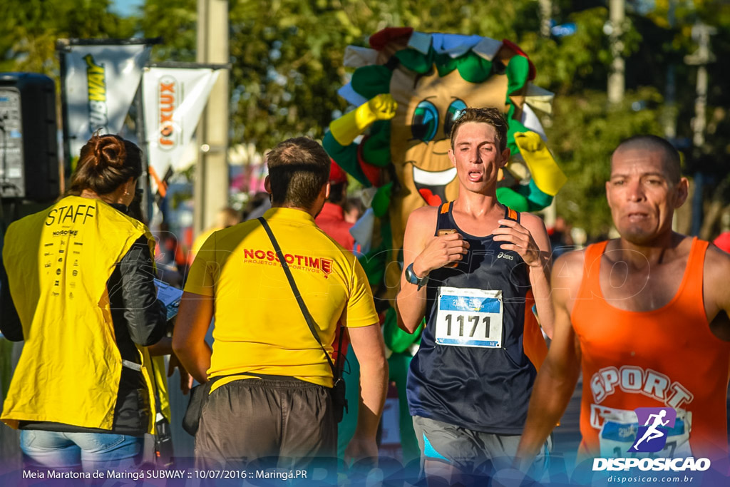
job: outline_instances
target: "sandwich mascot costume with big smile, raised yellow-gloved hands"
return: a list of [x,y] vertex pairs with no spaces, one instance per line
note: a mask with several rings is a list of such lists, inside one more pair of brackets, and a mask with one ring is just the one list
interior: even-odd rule
[[[383,311],[391,380],[399,388],[403,459],[410,461],[418,459],[419,450],[404,389],[420,328],[412,335],[401,331],[391,303],[399,288],[408,215],[458,196],[456,168],[447,156],[453,121],[466,107],[498,107],[504,112],[512,156],[500,175],[497,197],[514,210],[547,207],[566,177],[531,110],[550,112],[553,93],[530,83],[535,68],[520,47],[506,39],[407,27],[385,28],[370,37],[369,44],[371,48],[347,47],[345,66],[355,72],[339,95],[356,108],[330,124],[323,145],[364,188],[369,209],[351,232],[361,245],[360,261]],[[545,343],[531,348],[531,358],[539,365],[547,353]],[[353,393],[350,404],[357,404],[353,375],[347,391]],[[356,409],[350,408],[350,419],[340,424],[342,446],[352,436]]]

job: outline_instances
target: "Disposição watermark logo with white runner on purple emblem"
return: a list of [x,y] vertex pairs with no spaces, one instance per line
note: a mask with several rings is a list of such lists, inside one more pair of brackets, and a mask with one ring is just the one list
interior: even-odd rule
[[[633,453],[631,458],[597,458],[593,459],[593,471],[598,470],[664,470],[672,472],[704,471],[710,468],[710,459],[688,458],[638,458],[637,453],[656,453],[664,450],[666,438],[669,432],[675,427],[677,411],[672,407],[638,407],[634,410],[637,413],[639,427],[631,448],[627,453]],[[643,426],[640,426],[643,425]],[[617,448],[618,450],[618,448]],[[671,453],[670,453],[671,454]]]

